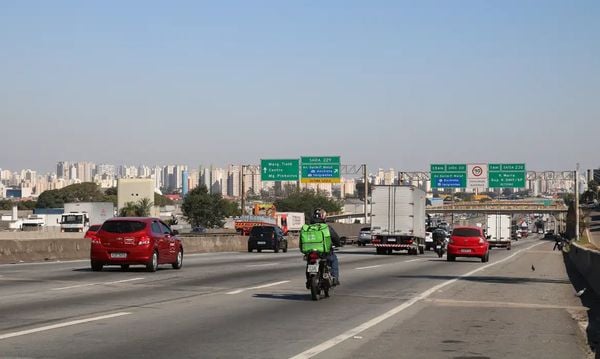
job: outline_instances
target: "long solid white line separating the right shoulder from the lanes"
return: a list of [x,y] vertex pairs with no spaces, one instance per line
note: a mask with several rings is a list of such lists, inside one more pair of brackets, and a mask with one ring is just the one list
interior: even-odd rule
[[448,285],[450,285],[450,284],[458,281],[459,279],[470,277],[473,274],[475,274],[477,272],[481,272],[483,270],[486,270],[487,268],[495,266],[496,264],[500,264],[500,263],[506,262],[509,259],[512,259],[516,255],[520,254],[521,252],[526,251],[526,250],[528,250],[530,248],[533,248],[535,246],[539,246],[540,244],[544,244],[544,242],[542,242],[542,243],[536,243],[536,244],[531,245],[531,246],[529,246],[527,248],[521,249],[521,250],[519,250],[519,251],[511,254],[510,256],[508,256],[508,257],[506,257],[504,259],[501,259],[501,260],[499,260],[497,262],[487,264],[487,265],[485,265],[483,267],[480,267],[480,268],[477,268],[475,270],[472,270],[472,271],[470,271],[470,272],[468,272],[466,274],[460,275],[457,278],[447,280],[447,281],[445,281],[443,283],[440,283],[440,284],[438,284],[438,285],[436,285],[434,287],[431,287],[428,290],[424,291],[423,293],[418,294],[417,296],[413,297],[412,299],[409,299],[408,301],[400,304],[399,306],[397,306],[395,308],[392,308],[391,310],[389,310],[389,311],[387,311],[387,312],[385,312],[385,313],[383,313],[383,314],[381,314],[381,315],[379,315],[379,316],[377,316],[377,317],[375,317],[375,318],[373,318],[373,319],[371,319],[371,320],[369,320],[369,321],[367,321],[367,322],[365,322],[365,323],[363,323],[363,324],[361,324],[361,325],[359,325],[359,326],[357,326],[355,328],[352,328],[352,329],[346,331],[345,333],[342,333],[342,334],[338,335],[337,337],[329,339],[329,340],[327,340],[327,341],[325,341],[325,342],[323,342],[323,343],[321,343],[321,344],[319,344],[319,345],[317,345],[317,346],[315,346],[315,347],[313,347],[311,349],[308,349],[308,350],[306,350],[306,351],[304,351],[304,352],[302,352],[302,353],[300,353],[298,355],[295,355],[295,356],[291,357],[290,359],[307,359],[307,358],[312,358],[315,355],[321,354],[322,352],[324,352],[324,351],[326,351],[328,349],[331,349],[332,347],[334,347],[337,344],[345,341],[346,339],[352,338],[355,335],[358,335],[361,332],[363,332],[363,331],[365,331],[365,330],[367,330],[367,329],[369,329],[371,327],[376,326],[377,324],[383,322],[384,320],[386,320],[386,319],[388,319],[390,317],[393,317],[394,315],[396,315],[396,314],[402,312],[403,310],[411,307],[413,304],[417,303],[418,301],[426,299],[427,297],[429,297],[430,295],[432,295],[436,291],[440,290],[441,288],[446,287],[446,286],[448,286]]

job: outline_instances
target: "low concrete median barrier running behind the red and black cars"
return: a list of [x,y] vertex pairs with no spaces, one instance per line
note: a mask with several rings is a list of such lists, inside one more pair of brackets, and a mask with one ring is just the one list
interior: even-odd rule
[[[61,233],[64,235],[65,233]],[[71,233],[68,233],[71,234]],[[49,260],[88,259],[89,239],[0,239],[0,264],[18,262],[40,262]],[[288,248],[298,248],[298,237],[288,236]],[[196,236],[183,237],[185,253],[245,252],[248,250],[247,236]]]

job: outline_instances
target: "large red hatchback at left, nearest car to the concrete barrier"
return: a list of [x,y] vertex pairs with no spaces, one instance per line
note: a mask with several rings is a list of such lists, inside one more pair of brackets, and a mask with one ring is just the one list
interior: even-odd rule
[[105,265],[126,270],[135,264],[145,265],[149,272],[155,272],[159,264],[181,269],[183,245],[178,234],[158,218],[109,219],[91,235],[92,270],[101,271]]

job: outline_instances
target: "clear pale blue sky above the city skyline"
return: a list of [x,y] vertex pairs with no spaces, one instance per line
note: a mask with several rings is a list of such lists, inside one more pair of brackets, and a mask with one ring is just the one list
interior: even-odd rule
[[0,168],[600,167],[598,1],[0,1]]

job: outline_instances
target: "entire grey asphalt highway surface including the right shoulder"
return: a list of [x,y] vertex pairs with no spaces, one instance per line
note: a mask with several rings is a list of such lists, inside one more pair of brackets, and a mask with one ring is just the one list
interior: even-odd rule
[[489,263],[344,247],[342,285],[318,302],[297,250],[156,273],[0,265],[0,357],[586,358],[585,308],[552,245],[530,236]]

